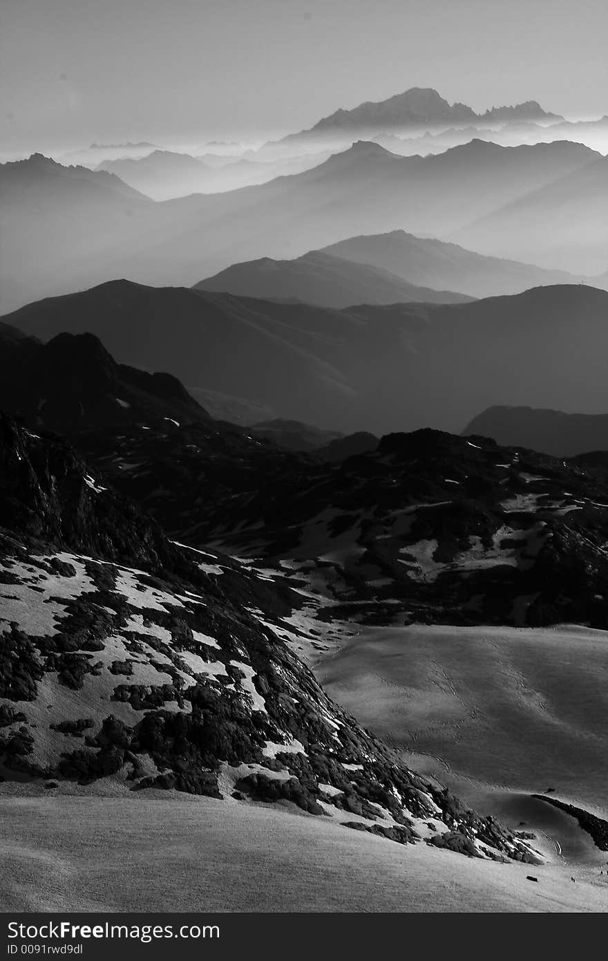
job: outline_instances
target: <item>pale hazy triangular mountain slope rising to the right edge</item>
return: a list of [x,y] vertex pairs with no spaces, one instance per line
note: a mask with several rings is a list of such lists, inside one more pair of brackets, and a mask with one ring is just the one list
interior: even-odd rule
[[484,254],[596,274],[608,249],[608,158],[474,219],[450,239]]

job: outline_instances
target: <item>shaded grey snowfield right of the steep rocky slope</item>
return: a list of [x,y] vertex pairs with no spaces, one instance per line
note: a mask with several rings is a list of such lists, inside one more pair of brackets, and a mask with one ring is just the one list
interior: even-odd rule
[[405,763],[514,826],[539,825],[574,860],[606,861],[572,818],[529,798],[550,787],[608,821],[608,631],[366,628],[319,653],[315,672]]

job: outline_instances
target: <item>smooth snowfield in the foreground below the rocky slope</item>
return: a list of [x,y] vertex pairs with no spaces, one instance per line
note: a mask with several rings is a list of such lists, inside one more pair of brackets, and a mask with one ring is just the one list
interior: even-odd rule
[[[605,912],[596,876],[211,799],[0,798],[1,911]],[[201,857],[201,851],[205,856]],[[271,882],[272,879],[272,882]]]

